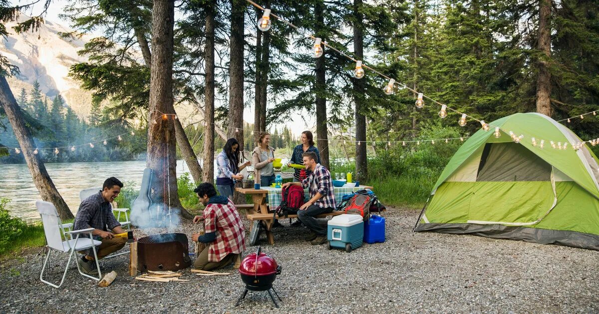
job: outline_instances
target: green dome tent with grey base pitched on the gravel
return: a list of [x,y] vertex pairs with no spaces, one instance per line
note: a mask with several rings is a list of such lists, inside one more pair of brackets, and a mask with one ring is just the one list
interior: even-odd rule
[[[574,150],[582,140],[546,115],[513,114],[489,125],[491,130],[474,133],[451,158],[415,231],[599,250],[595,154],[586,145]],[[495,127],[501,128],[500,138]],[[516,143],[510,131],[524,138]],[[552,148],[550,141],[567,148]]]

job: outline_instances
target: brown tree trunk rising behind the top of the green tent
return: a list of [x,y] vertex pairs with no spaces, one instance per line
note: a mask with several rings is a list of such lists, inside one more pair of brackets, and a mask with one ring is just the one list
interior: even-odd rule
[[551,73],[549,58],[551,57],[551,0],[539,1],[539,38],[537,48],[544,56],[539,60],[539,77],[537,77],[537,112],[551,117]]

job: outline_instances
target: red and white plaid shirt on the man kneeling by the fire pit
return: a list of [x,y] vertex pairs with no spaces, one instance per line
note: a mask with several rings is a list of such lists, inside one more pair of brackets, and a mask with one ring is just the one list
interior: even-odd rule
[[246,249],[243,222],[231,200],[227,205],[208,204],[203,216],[205,233],[216,232],[208,248],[208,261],[221,261],[229,253],[240,254]]

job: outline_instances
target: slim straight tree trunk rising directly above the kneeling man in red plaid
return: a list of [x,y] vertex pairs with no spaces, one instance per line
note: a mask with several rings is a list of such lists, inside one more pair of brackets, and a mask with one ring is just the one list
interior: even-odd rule
[[214,4],[206,10],[204,90],[204,182],[214,182]]

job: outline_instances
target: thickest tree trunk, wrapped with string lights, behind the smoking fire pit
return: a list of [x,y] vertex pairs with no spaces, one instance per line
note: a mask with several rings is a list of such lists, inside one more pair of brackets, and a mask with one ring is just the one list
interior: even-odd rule
[[[162,204],[164,214],[183,209],[177,191],[177,154],[173,108],[174,0],[154,0],[152,8],[152,67],[150,68],[150,123],[147,167],[154,170],[153,203]],[[162,117],[163,114],[167,114]],[[181,211],[183,218],[189,213]]]

